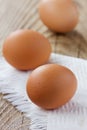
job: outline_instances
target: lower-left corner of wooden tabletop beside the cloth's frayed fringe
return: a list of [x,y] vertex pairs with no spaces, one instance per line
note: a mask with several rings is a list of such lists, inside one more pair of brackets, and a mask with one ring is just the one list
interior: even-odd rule
[[29,130],[29,119],[0,94],[0,130]]

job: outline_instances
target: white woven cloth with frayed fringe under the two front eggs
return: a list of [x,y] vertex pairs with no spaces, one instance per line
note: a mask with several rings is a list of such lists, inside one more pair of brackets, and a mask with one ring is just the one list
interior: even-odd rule
[[46,111],[27,97],[26,82],[32,71],[19,71],[0,57],[0,92],[31,119],[31,130],[87,130],[87,61],[51,54],[50,63],[71,69],[78,79],[74,97],[59,109]]

